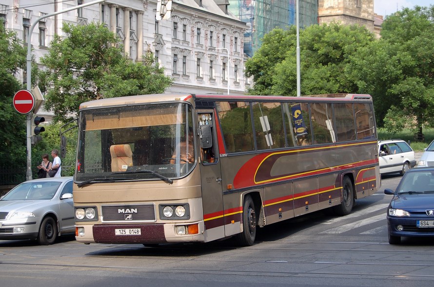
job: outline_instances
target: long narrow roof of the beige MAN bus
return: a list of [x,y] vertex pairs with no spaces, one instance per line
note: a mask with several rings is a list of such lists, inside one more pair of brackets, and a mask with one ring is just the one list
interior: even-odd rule
[[[290,99],[289,99],[290,98]],[[267,101],[267,102],[282,102],[282,101],[297,101],[309,102],[309,101],[362,101],[371,102],[372,98],[367,94],[350,94],[350,93],[335,93],[335,94],[322,94],[322,95],[307,95],[302,97],[293,96],[255,96],[255,95],[221,95],[221,94],[149,94],[149,95],[137,95],[116,97],[108,99],[99,99],[89,102],[84,102],[80,105],[82,108],[100,108],[118,105],[135,105],[144,103],[158,103],[158,102],[173,102],[173,101],[186,101],[189,99],[206,100],[206,101]]]

